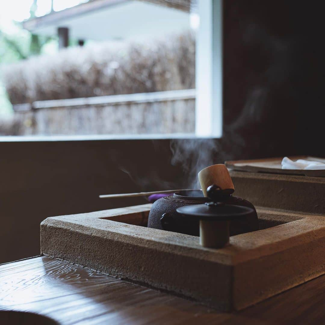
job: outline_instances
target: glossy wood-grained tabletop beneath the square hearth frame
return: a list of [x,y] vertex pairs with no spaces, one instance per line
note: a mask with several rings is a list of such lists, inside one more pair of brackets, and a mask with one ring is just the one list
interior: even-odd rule
[[324,324],[325,276],[226,314],[38,256],[0,265],[3,324],[1,310],[30,311],[59,324]]

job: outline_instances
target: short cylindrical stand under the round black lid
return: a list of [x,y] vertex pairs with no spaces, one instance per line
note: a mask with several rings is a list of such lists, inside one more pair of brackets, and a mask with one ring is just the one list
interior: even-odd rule
[[200,244],[221,248],[229,242],[229,221],[200,220]]

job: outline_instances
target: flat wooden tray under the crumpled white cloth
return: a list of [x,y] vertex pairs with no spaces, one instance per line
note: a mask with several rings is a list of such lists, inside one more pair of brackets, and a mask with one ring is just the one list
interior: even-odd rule
[[[311,156],[291,156],[291,160],[304,159],[310,161],[324,162],[324,158],[311,157]],[[282,158],[267,158],[267,159],[254,159],[254,160],[235,160],[225,162],[226,166],[232,170],[239,170],[244,172],[255,173],[273,173],[273,174],[286,174],[286,175],[305,175],[314,177],[325,177],[325,169],[305,170],[305,169],[282,169]]]

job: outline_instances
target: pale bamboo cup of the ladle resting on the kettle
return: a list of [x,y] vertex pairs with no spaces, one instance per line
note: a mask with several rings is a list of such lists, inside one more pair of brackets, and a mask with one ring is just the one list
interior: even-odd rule
[[206,189],[213,184],[219,186],[221,189],[232,188],[235,190],[228,169],[224,164],[206,167],[199,172],[198,177],[204,196],[207,196]]

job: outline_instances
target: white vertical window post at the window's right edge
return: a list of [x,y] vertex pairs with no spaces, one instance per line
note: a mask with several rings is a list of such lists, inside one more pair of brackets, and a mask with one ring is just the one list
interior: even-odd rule
[[222,136],[222,0],[198,0],[195,135]]

